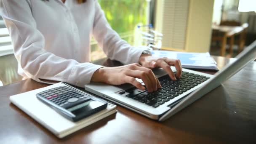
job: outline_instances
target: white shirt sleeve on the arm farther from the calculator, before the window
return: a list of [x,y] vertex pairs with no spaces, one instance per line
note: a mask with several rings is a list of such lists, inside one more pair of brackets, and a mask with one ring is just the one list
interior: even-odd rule
[[147,49],[135,48],[122,40],[107,22],[97,0],[95,0],[93,36],[110,59],[115,59],[123,64],[138,63],[142,51]]

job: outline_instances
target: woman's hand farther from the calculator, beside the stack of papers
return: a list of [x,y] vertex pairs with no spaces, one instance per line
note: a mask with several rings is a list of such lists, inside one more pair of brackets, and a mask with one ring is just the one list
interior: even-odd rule
[[[141,54],[139,64],[150,69],[162,67],[172,80],[176,80],[176,78],[181,77],[182,67],[179,59],[169,59],[167,57],[155,58],[151,55]],[[170,66],[174,66],[176,68],[176,75],[174,75]]]

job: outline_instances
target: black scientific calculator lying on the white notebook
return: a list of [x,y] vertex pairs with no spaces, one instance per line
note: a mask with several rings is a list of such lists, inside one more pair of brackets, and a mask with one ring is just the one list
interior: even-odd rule
[[69,120],[78,121],[102,109],[107,102],[77,88],[59,86],[36,94],[37,99]]

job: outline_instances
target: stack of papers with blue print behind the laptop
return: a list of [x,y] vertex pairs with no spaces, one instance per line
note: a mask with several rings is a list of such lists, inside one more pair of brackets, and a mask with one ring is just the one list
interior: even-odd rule
[[176,51],[152,51],[152,55],[156,57],[168,57],[171,59],[179,59],[184,68],[191,69],[212,69],[219,70],[216,61],[209,53],[186,53]]

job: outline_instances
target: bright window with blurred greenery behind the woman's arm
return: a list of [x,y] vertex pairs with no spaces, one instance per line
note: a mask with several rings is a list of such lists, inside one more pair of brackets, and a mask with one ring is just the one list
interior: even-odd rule
[[[98,0],[107,21],[123,40],[133,45],[138,24],[147,24],[150,0]],[[91,60],[105,57],[95,40],[91,41]]]

